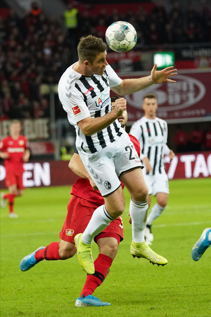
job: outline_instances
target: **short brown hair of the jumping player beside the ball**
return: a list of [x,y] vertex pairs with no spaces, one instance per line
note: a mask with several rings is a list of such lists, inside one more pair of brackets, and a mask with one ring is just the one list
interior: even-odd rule
[[107,45],[102,41],[101,38],[89,35],[86,37],[82,36],[80,38],[77,49],[80,63],[83,63],[85,60],[88,60],[92,63],[99,53],[106,51]]

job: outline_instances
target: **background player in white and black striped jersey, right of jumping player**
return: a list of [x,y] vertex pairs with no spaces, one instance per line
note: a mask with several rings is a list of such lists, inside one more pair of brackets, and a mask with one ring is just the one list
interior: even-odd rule
[[143,176],[149,188],[149,208],[151,194],[157,198],[157,204],[152,207],[145,228],[146,243],[152,244],[152,223],[166,208],[169,195],[169,182],[165,172],[164,155],[168,155],[170,160],[172,160],[175,154],[166,145],[168,137],[166,121],[156,117],[158,108],[157,96],[155,94],[146,94],[143,98],[142,107],[145,115],[133,123],[130,134],[135,136],[140,142],[140,159],[145,165]]

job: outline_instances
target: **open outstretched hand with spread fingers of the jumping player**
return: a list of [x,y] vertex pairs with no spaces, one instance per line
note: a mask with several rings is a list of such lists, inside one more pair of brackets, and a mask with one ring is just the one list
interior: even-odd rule
[[157,64],[155,64],[151,71],[151,78],[154,84],[160,84],[162,82],[168,81],[168,82],[176,82],[174,80],[169,79],[168,77],[177,75],[175,73],[177,69],[172,69],[174,66],[166,67],[162,70],[156,70]]

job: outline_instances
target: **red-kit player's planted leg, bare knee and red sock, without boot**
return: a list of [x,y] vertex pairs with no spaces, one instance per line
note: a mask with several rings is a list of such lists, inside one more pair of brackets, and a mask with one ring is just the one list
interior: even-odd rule
[[[101,234],[98,235],[100,237]],[[120,242],[120,236],[116,234],[117,238],[105,237],[99,238],[97,244],[100,250],[99,256],[96,258],[95,273],[87,275],[84,288],[80,296],[92,295],[95,289],[102,284],[106,276],[109,274],[110,266],[117,254]]]

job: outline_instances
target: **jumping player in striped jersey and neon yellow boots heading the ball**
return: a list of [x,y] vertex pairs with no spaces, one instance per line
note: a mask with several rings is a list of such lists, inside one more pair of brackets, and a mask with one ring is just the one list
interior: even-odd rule
[[117,99],[111,111],[110,87],[118,95],[132,94],[152,84],[175,82],[169,77],[177,74],[176,69],[171,66],[157,71],[155,64],[149,76],[121,80],[106,61],[106,48],[100,38],[82,37],[78,44],[79,61],[67,68],[58,85],[59,99],[76,128],[78,154],[105,201],[94,211],[84,233],[75,236],[78,261],[88,274],[95,272],[91,253],[94,236],[125,209],[120,180],[131,194],[131,254],[153,264],[168,262],[145,243],[148,188],[139,156],[117,120],[126,109],[126,100]]

